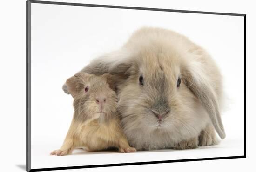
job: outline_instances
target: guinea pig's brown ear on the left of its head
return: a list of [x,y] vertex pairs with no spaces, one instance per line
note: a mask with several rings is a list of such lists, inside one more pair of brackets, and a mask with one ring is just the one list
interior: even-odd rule
[[75,98],[78,93],[84,89],[86,82],[88,82],[90,75],[86,73],[76,73],[71,78],[67,79],[67,92]]

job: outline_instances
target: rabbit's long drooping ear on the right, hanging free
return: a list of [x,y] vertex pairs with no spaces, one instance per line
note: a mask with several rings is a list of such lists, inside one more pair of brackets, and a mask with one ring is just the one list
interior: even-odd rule
[[226,137],[222,119],[219,112],[219,105],[216,92],[208,76],[205,76],[202,67],[190,66],[183,71],[185,83],[192,93],[199,99],[202,106],[206,109],[216,132],[221,139]]

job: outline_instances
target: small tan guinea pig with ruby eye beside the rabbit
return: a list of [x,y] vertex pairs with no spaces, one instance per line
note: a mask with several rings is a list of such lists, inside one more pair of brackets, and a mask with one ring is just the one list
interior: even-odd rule
[[135,152],[121,130],[117,96],[111,89],[110,74],[96,76],[77,73],[67,79],[67,89],[74,98],[74,116],[66,139],[51,155],[67,155],[75,148],[100,151],[118,148],[120,152]]

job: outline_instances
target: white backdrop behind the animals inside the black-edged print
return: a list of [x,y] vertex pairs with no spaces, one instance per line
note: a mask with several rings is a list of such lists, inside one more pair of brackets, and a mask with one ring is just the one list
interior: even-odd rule
[[[31,7],[32,168],[243,155],[243,17],[34,3]],[[49,152],[61,146],[73,116],[73,98],[63,93],[63,83],[93,58],[121,47],[141,26],[182,33],[213,56],[229,95],[223,113],[227,138],[218,146],[195,150],[126,155],[75,151],[50,157]]]

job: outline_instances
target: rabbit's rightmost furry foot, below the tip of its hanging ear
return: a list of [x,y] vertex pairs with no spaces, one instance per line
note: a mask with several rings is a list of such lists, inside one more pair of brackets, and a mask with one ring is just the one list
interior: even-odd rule
[[218,145],[215,129],[213,126],[207,126],[199,135],[199,146]]

